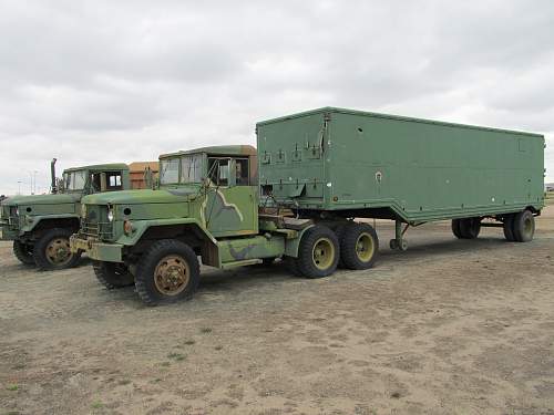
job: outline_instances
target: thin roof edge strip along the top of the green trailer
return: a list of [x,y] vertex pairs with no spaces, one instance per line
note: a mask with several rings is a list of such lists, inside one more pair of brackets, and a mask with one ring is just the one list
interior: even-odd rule
[[304,112],[296,113],[296,114],[280,116],[280,117],[277,117],[277,118],[260,121],[260,122],[256,123],[256,126],[258,126],[258,125],[267,125],[267,124],[273,124],[273,123],[279,123],[279,122],[291,120],[291,118],[299,118],[299,117],[302,117],[302,116],[321,114],[321,113],[339,113],[339,114],[350,114],[350,115],[366,115],[366,116],[371,116],[371,117],[376,117],[376,118],[389,118],[389,120],[397,120],[397,121],[404,121],[404,122],[412,122],[412,123],[447,125],[447,126],[461,127],[461,128],[482,129],[482,131],[492,131],[492,132],[501,132],[501,133],[512,133],[512,134],[527,135],[527,136],[534,136],[534,137],[544,137],[544,135],[542,135],[542,134],[529,133],[529,132],[522,132],[522,131],[515,131],[515,129],[494,128],[494,127],[485,127],[485,126],[480,126],[480,125],[470,125],[470,124],[460,124],[460,123],[449,123],[449,122],[442,122],[442,121],[437,121],[437,120],[416,118],[416,117],[408,117],[408,116],[401,116],[401,115],[372,113],[372,112],[367,112],[367,111],[338,108],[338,107],[335,107],[335,106],[324,106],[321,108],[316,108],[316,110],[310,110],[310,111],[304,111]]

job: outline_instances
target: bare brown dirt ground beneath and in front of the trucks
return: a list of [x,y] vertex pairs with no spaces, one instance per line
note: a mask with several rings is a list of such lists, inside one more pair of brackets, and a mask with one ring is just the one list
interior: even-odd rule
[[554,206],[535,240],[445,222],[369,271],[205,273],[146,308],[0,245],[0,414],[554,414]]

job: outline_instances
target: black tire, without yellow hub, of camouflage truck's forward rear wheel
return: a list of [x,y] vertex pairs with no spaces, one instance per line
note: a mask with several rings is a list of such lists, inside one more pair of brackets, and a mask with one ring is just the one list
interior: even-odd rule
[[[314,262],[314,248],[321,238],[328,239],[332,243],[334,257],[326,269],[318,268]],[[340,243],[337,235],[326,226],[316,225],[306,230],[298,247],[298,269],[306,278],[322,278],[330,276],[337,269],[340,258]]]

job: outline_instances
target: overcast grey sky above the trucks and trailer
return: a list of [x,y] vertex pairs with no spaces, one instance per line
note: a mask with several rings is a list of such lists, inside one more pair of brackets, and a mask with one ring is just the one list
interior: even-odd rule
[[546,135],[554,1],[0,0],[0,194],[343,106]]

